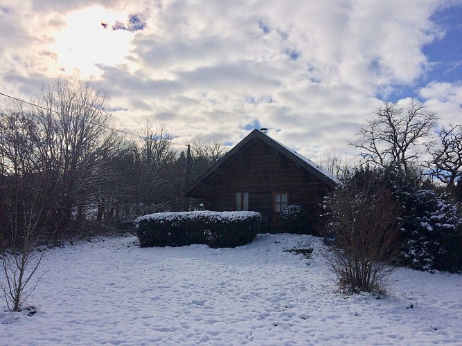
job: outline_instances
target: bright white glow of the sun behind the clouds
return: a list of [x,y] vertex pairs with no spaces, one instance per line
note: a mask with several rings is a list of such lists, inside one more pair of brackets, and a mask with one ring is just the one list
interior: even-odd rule
[[58,69],[70,74],[80,73],[88,78],[90,75],[100,75],[100,64],[127,64],[133,33],[111,28],[126,17],[124,13],[100,7],[66,15],[63,18],[66,27],[55,35],[55,44],[51,47],[51,51],[57,55]]

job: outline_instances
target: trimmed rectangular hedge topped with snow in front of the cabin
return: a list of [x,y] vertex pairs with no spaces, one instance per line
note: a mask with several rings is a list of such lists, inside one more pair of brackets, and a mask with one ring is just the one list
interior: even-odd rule
[[249,244],[260,230],[258,212],[159,212],[135,220],[142,248],[206,244],[234,248]]

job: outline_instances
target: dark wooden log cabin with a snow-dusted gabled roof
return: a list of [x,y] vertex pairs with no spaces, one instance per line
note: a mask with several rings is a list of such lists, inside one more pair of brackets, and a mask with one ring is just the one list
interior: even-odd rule
[[199,176],[185,197],[203,199],[206,210],[260,212],[266,231],[282,231],[279,215],[289,204],[305,206],[312,224],[336,179],[308,158],[258,129]]

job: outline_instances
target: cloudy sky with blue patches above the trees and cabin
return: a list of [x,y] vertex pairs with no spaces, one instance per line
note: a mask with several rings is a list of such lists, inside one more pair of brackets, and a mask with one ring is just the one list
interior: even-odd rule
[[462,122],[462,0],[0,0],[0,23],[0,93],[78,73],[118,128],[149,119],[176,143],[269,127],[310,158],[353,152],[406,98]]

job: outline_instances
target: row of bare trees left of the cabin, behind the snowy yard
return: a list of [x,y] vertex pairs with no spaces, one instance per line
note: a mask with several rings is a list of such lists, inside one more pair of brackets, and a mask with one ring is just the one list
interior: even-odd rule
[[197,139],[188,160],[165,125],[149,122],[137,136],[121,135],[111,127],[109,95],[76,78],[54,80],[32,103],[0,108],[3,243],[28,230],[50,241],[89,221],[120,226],[145,213],[189,210],[187,180],[225,153],[220,140]]

